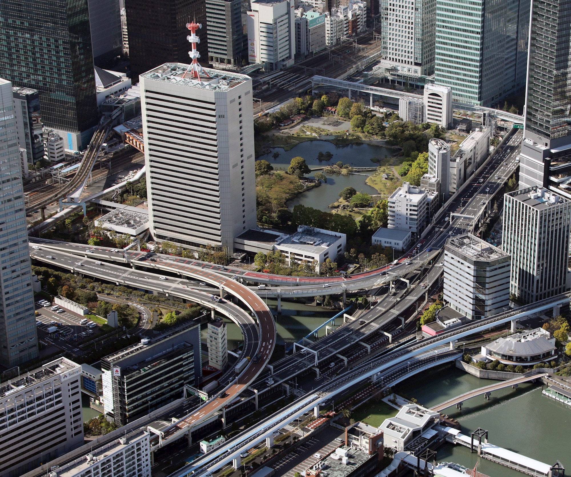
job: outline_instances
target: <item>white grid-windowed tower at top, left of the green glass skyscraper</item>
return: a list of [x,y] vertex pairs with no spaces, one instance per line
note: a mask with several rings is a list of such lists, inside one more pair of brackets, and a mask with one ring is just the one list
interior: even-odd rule
[[434,73],[436,0],[381,0],[383,56],[403,75]]

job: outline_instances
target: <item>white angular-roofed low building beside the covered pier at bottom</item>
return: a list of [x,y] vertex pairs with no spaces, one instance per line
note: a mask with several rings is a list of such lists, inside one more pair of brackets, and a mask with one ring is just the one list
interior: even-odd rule
[[[384,434],[384,446],[396,451],[416,450],[414,444],[420,438],[423,444],[437,436],[433,430],[440,422],[440,414],[418,404],[405,404],[396,416],[383,421],[379,428]],[[411,447],[412,446],[412,447]]]

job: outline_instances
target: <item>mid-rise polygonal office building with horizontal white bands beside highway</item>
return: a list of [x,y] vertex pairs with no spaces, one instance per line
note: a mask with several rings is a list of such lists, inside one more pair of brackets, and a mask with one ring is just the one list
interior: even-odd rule
[[475,235],[444,245],[444,301],[470,319],[487,318],[509,307],[509,254]]

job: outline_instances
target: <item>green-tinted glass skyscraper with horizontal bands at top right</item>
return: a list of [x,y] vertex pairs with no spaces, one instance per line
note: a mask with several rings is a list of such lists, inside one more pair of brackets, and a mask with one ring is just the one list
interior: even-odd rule
[[530,0],[437,0],[435,82],[492,106],[525,86]]

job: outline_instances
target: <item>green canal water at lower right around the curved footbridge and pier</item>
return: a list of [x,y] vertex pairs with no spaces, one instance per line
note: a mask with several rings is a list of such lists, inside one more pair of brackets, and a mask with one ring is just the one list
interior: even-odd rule
[[[478,379],[457,368],[423,372],[395,388],[397,394],[416,398],[423,406],[431,407],[497,381]],[[478,427],[488,431],[488,442],[518,454],[554,464],[559,460],[571,469],[571,407],[541,394],[541,385],[520,384],[517,390],[506,388],[494,391],[492,399],[483,396],[464,402],[461,411],[451,407],[445,412],[457,419],[465,435]],[[500,466],[486,459],[478,459],[468,447],[445,444],[440,447],[437,460],[449,461],[473,468],[490,477],[522,477],[524,474]]]

